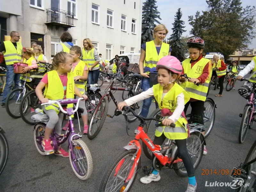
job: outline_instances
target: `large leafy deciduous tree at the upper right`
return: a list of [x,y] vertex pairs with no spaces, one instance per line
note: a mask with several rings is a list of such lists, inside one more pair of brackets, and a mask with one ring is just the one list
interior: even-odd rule
[[221,52],[226,58],[245,49],[255,36],[255,7],[240,0],[206,0],[208,9],[189,16],[190,34],[205,41],[204,52]]

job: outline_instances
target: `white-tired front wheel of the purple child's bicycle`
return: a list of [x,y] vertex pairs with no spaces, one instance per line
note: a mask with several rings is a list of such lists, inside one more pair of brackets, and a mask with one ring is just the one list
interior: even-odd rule
[[69,161],[73,172],[81,180],[89,179],[93,167],[89,148],[83,140],[76,139],[72,141],[72,149],[75,158],[72,158],[71,150],[69,150]]

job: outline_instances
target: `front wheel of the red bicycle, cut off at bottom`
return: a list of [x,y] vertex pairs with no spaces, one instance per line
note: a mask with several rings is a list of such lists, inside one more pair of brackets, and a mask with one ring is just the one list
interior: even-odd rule
[[125,183],[129,173],[132,170],[134,162],[135,149],[125,150],[118,156],[112,166],[105,172],[103,179],[100,183],[100,192],[129,192],[137,177],[140,168],[140,159],[134,169],[132,178]]

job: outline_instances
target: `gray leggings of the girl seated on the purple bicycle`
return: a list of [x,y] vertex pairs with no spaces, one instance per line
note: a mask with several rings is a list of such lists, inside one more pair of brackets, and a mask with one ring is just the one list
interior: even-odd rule
[[55,132],[58,135],[61,135],[61,125],[63,121],[63,113],[60,111],[59,114],[56,113],[55,110],[50,109],[50,110],[45,110],[44,108],[44,113],[49,116],[50,120],[47,122],[46,127],[53,129],[55,128]]

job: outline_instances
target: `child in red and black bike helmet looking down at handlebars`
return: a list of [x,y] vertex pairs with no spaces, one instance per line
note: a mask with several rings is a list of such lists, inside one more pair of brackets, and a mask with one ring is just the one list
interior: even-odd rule
[[[187,81],[185,77],[180,78],[181,87],[190,95],[189,102],[185,105],[186,114],[188,106],[191,106],[191,113],[197,116],[195,123],[204,124],[204,101],[206,100],[208,87],[210,83],[211,61],[203,58],[204,40],[200,37],[190,38],[187,42],[189,58],[182,62],[183,71],[181,74],[187,74],[191,79]],[[196,84],[200,85],[197,86]],[[204,135],[204,132],[202,132]],[[204,155],[207,149],[204,146]]]

